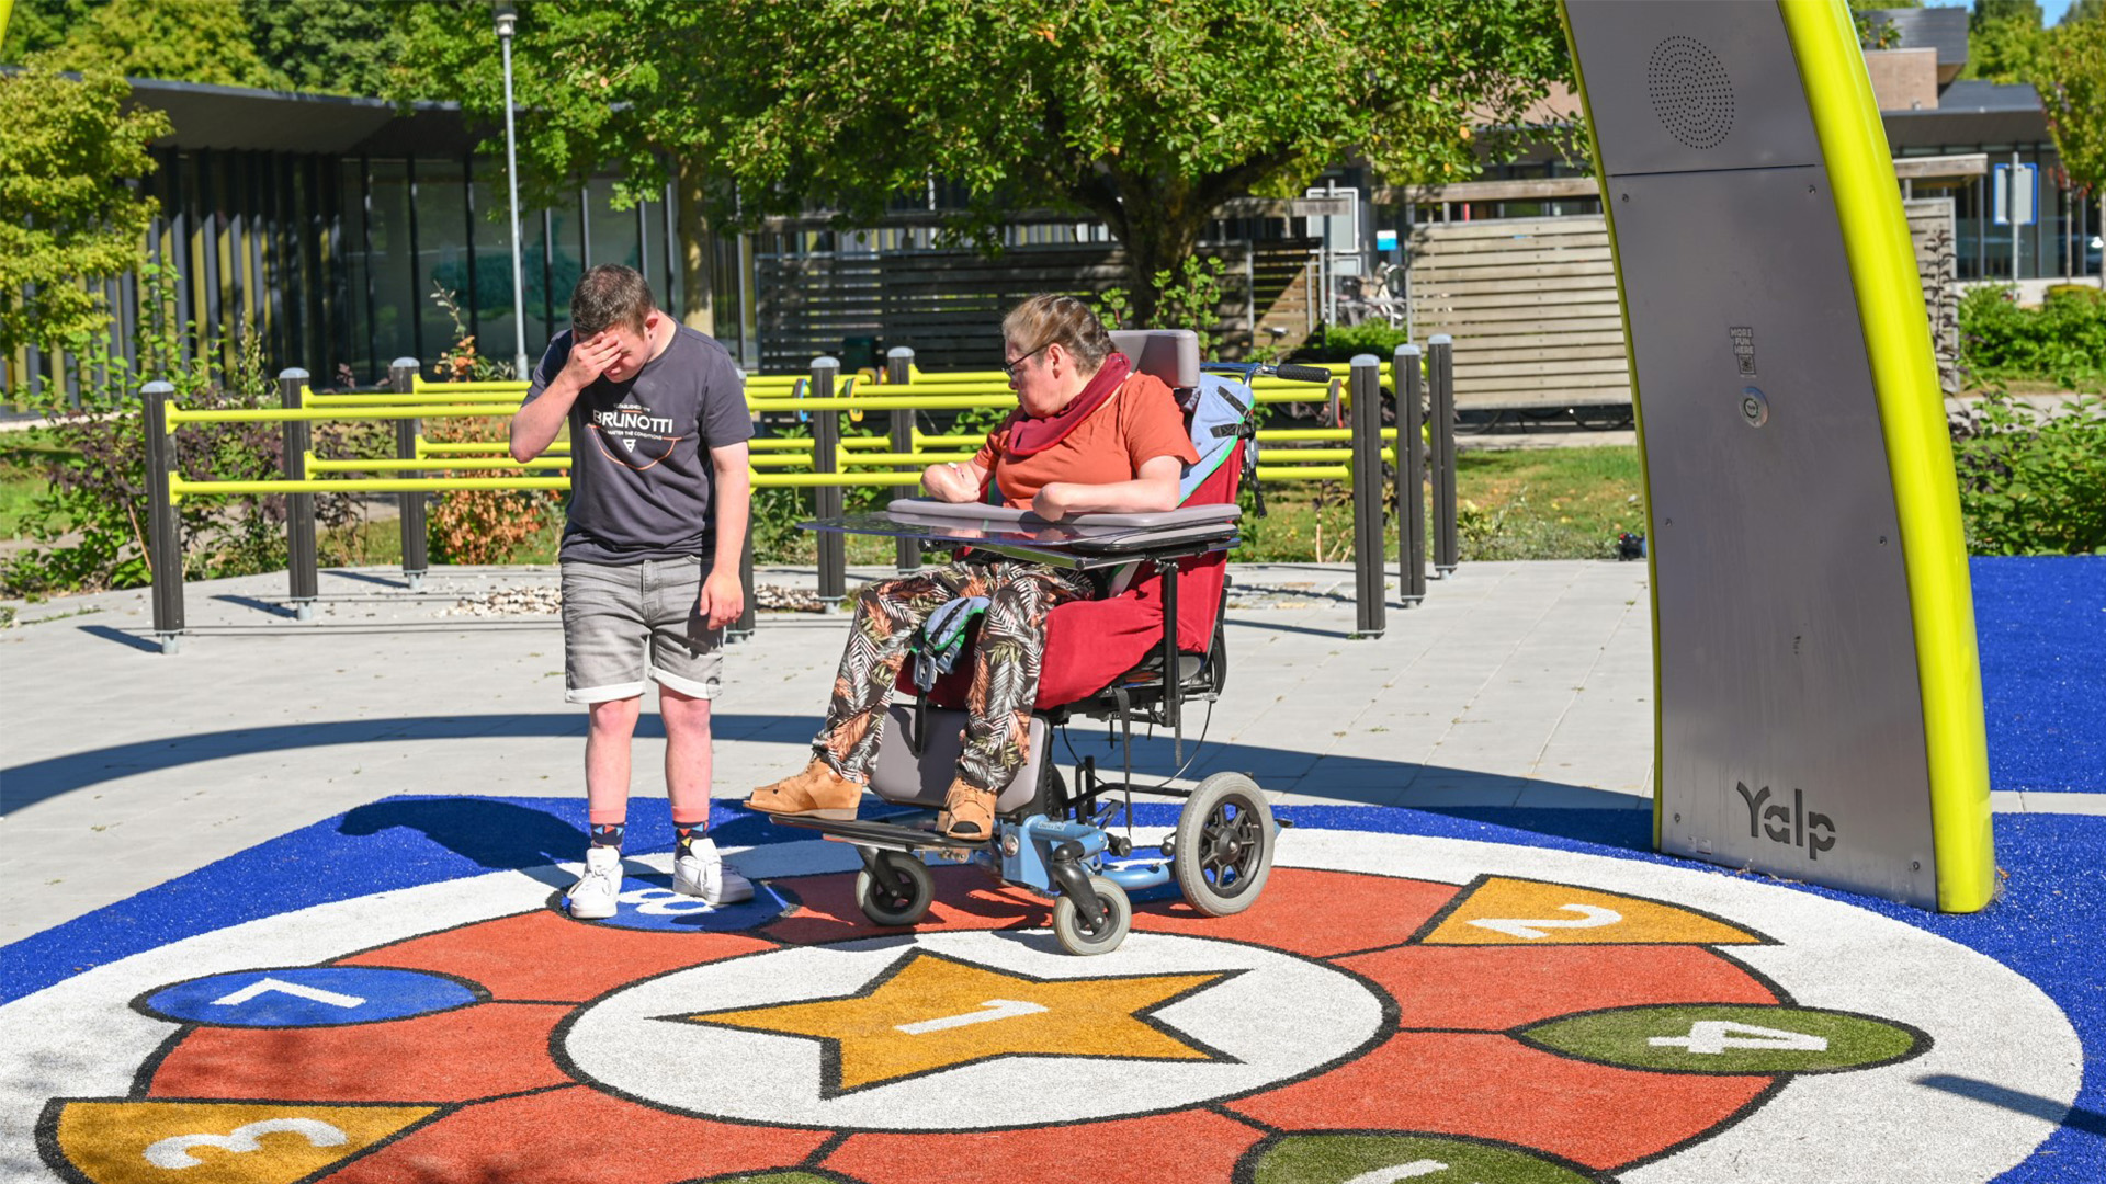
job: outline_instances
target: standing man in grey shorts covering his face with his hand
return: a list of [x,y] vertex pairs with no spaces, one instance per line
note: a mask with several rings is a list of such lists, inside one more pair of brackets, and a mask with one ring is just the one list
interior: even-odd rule
[[710,826],[710,699],[724,626],[743,609],[739,552],[752,493],[752,417],[731,356],[674,322],[630,268],[585,272],[571,329],[535,369],[512,417],[512,459],[541,455],[571,423],[571,508],[562,531],[564,699],[585,704],[592,845],[571,916],[615,914],[630,798],[630,737],[644,683],[659,685],[674,891],[750,900]]

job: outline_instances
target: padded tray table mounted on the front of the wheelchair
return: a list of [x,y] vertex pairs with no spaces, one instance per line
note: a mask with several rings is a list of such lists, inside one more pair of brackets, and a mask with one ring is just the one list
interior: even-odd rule
[[1076,514],[1049,522],[1030,510],[895,499],[885,510],[800,522],[807,531],[918,539],[1064,569],[1184,558],[1236,546],[1238,506],[1179,506],[1156,514]]

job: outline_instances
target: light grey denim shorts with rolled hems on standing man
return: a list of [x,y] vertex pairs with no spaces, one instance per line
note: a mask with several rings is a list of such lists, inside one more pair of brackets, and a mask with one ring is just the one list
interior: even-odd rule
[[695,611],[701,558],[562,563],[562,697],[573,704],[634,699],[657,680],[714,699],[724,630]]

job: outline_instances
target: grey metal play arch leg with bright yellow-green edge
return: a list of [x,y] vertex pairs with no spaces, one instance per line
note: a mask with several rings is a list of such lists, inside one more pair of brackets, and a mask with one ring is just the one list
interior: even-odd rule
[[1994,847],[1967,548],[1849,13],[1563,11],[1651,514],[1655,841],[1982,908]]

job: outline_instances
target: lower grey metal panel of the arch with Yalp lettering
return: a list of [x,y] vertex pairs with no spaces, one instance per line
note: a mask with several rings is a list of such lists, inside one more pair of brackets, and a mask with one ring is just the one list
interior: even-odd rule
[[1611,196],[1653,501],[1662,849],[1935,908],[1893,482],[1826,173],[1613,177]]

